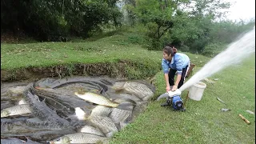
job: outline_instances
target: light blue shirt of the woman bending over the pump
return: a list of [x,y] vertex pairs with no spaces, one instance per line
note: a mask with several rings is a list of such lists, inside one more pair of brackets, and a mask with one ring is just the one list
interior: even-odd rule
[[178,74],[182,74],[182,69],[190,64],[190,58],[186,54],[176,53],[171,62],[162,58],[162,70],[164,74],[169,73],[169,68],[177,70]]

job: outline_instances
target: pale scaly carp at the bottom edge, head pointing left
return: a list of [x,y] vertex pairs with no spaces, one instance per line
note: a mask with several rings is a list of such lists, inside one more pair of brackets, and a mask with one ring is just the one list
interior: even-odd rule
[[86,133],[74,133],[74,134],[66,134],[60,138],[55,138],[50,141],[50,144],[58,144],[58,143],[97,143],[105,141],[106,137],[101,137],[94,134],[86,134]]

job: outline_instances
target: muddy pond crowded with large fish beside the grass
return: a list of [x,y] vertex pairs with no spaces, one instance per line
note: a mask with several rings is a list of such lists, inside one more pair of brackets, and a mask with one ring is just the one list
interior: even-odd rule
[[97,143],[146,108],[146,80],[72,76],[1,84],[1,143]]

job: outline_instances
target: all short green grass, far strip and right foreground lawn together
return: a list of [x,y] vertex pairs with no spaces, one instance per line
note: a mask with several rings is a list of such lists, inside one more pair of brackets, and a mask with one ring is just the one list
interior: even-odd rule
[[[131,42],[132,35],[116,34],[90,42],[1,43],[1,69],[54,66],[69,63],[118,62],[130,60],[161,66],[162,51],[149,51]],[[186,53],[188,54],[188,53]],[[199,70],[210,58],[188,54]],[[195,72],[194,72],[195,73]],[[214,74],[206,83],[201,101],[187,102],[185,112],[161,107],[152,100],[134,123],[114,135],[110,143],[255,143],[255,58]],[[165,93],[162,71],[155,75],[156,94]],[[182,92],[185,99],[187,91]],[[221,98],[227,105],[218,102]],[[222,112],[220,109],[230,111]],[[243,122],[238,114],[247,118]]]

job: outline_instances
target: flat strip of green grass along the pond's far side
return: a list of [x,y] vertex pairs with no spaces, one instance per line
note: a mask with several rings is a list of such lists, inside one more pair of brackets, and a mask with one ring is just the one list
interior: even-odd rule
[[[68,63],[133,62],[161,63],[162,51],[149,51],[132,44],[130,34],[117,34],[95,42],[38,42],[27,44],[1,43],[1,69],[54,66]],[[192,62],[202,56],[190,54]]]

